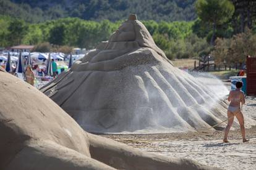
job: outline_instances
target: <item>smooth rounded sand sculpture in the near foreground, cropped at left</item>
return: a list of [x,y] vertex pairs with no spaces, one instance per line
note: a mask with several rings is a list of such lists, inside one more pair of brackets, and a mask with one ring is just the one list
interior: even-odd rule
[[0,169],[215,169],[89,134],[46,95],[0,71]]

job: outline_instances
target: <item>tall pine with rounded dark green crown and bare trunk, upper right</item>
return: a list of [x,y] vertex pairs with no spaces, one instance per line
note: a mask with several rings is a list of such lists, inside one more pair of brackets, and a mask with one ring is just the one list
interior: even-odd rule
[[214,45],[216,26],[227,22],[234,13],[234,5],[228,0],[197,0],[195,7],[198,17],[212,25],[211,45]]

